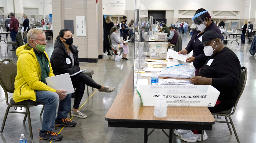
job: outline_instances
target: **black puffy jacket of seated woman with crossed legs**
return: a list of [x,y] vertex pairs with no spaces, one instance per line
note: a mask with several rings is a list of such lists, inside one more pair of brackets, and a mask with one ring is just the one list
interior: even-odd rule
[[[54,43],[54,50],[52,52],[50,62],[54,75],[60,75],[64,73],[69,73],[72,75],[78,71],[80,71],[79,60],[78,60],[78,50],[76,46],[69,45],[71,52],[74,57],[74,66],[72,66],[72,59],[67,53],[67,49],[64,44],[61,42],[59,38]],[[67,64],[66,58],[69,58],[71,63]]]

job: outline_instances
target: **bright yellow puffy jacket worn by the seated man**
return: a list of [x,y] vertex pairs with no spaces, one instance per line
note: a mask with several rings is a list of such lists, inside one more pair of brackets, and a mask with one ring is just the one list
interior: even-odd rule
[[[49,77],[54,76],[49,57],[46,52],[44,53],[49,61]],[[28,44],[20,46],[16,50],[16,55],[18,56],[17,76],[15,78],[15,90],[12,96],[15,102],[21,102],[23,100],[36,101],[35,90],[56,92],[55,89],[40,81],[41,67],[33,48],[29,47]]]

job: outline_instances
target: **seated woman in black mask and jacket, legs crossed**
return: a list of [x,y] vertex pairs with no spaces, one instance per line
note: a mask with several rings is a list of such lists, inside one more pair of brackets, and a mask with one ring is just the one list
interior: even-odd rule
[[[52,52],[50,62],[54,75],[60,75],[64,73],[69,73],[72,75],[80,71],[79,60],[78,60],[78,50],[76,46],[72,45],[73,37],[72,33],[68,29],[62,29],[57,36],[54,43],[54,50]],[[79,104],[82,100],[85,85],[93,88],[97,88],[99,92],[113,92],[114,87],[101,86],[95,83],[92,78],[85,75],[84,73],[78,73],[71,76],[71,81],[75,90],[75,99],[73,110],[71,111],[72,116],[79,118],[86,118],[87,116],[78,110]]]

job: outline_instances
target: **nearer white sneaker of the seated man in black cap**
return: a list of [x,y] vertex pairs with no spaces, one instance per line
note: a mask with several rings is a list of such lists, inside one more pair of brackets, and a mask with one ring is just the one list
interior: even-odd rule
[[[206,140],[208,137],[206,135],[206,132],[204,131],[204,137],[203,141]],[[196,142],[196,141],[201,141],[201,134],[194,134],[192,131],[188,132],[185,135],[181,136],[181,139],[186,141],[186,142]]]

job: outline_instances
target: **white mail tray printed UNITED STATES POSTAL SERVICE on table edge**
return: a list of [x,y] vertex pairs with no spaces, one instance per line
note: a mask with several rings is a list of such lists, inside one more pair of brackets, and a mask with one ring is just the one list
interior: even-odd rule
[[211,85],[138,85],[143,106],[155,106],[163,92],[168,106],[214,107],[220,92]]

